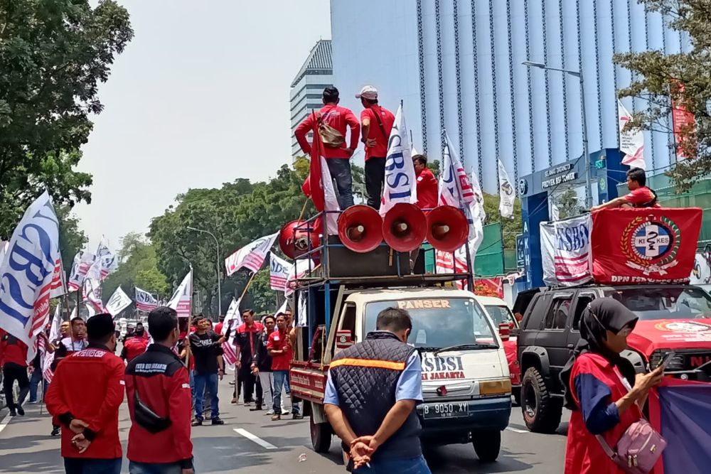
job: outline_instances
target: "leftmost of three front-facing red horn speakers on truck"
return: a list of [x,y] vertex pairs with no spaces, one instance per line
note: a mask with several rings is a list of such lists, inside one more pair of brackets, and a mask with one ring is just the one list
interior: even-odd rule
[[353,252],[364,254],[383,242],[383,218],[367,205],[356,204],[338,216],[338,237]]

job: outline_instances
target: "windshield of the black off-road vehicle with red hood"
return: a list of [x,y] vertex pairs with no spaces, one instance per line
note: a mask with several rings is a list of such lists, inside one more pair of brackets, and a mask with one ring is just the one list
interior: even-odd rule
[[621,301],[640,319],[711,318],[711,296],[696,286],[658,286],[614,289],[605,292]]

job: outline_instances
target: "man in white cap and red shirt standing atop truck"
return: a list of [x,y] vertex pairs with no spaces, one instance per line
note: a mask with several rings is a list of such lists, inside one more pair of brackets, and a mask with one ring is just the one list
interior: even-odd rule
[[387,156],[387,141],[390,139],[395,115],[390,110],[378,105],[378,90],[372,85],[366,85],[355,95],[363,104],[360,112],[363,143],[365,144],[365,191],[368,193],[368,205],[380,209],[380,199],[383,195],[385,181],[385,156]]

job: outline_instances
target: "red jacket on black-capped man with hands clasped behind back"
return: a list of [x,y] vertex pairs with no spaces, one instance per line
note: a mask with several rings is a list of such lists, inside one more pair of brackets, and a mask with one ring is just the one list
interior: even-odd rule
[[124,401],[124,361],[102,345],[90,345],[59,362],[45,400],[54,424],[68,427],[72,419],[89,424],[84,433],[92,441],[80,454],[72,446],[74,433],[62,430],[65,458],[122,457],[119,406]]

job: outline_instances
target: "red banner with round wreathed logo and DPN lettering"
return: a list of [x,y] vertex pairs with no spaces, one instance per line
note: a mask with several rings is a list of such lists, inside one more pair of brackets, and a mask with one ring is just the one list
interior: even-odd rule
[[592,276],[603,284],[681,283],[694,267],[699,208],[604,209],[592,215]]

